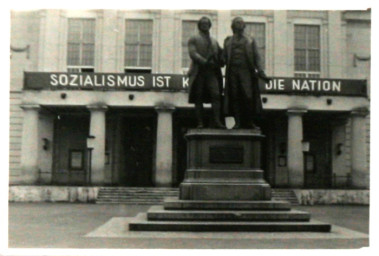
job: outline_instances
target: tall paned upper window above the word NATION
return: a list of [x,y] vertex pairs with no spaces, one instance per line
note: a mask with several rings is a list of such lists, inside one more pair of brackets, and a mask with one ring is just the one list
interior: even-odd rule
[[295,25],[295,77],[320,77],[318,25]]

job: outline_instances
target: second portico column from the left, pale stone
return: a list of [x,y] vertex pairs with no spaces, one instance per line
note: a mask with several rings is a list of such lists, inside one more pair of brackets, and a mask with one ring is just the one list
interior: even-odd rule
[[104,184],[104,164],[105,164],[105,105],[91,105],[88,109],[91,112],[90,136],[93,136],[91,157],[91,184]]

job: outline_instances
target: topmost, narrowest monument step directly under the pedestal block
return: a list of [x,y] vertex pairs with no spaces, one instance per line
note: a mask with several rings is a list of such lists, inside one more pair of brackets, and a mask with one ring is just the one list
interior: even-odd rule
[[179,200],[168,197],[164,200],[167,210],[275,210],[287,211],[291,205],[286,201],[208,201],[208,200]]

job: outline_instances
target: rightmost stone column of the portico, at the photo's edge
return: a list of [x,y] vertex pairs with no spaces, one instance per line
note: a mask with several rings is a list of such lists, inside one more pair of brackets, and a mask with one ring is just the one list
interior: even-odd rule
[[351,113],[351,176],[354,188],[369,188],[367,166],[366,115],[367,109]]

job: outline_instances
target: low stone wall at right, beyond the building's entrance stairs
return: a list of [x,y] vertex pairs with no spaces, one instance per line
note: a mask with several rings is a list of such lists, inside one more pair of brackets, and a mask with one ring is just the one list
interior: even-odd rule
[[370,204],[369,190],[294,189],[300,205]]

